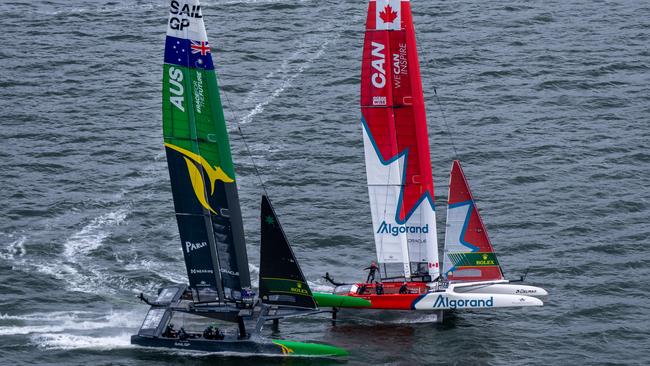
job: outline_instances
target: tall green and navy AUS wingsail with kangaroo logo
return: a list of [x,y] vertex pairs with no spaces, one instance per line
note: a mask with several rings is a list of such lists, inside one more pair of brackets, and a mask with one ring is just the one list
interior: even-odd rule
[[199,1],[171,0],[163,134],[187,274],[191,287],[237,300],[250,274],[211,52]]

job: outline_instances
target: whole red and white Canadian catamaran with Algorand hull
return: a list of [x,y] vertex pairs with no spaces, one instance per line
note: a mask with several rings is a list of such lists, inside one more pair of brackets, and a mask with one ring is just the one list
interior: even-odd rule
[[504,279],[458,161],[451,173],[441,268],[409,0],[369,2],[361,115],[380,276],[372,283],[339,285],[334,293],[368,300],[372,309],[541,306],[534,296],[546,291]]

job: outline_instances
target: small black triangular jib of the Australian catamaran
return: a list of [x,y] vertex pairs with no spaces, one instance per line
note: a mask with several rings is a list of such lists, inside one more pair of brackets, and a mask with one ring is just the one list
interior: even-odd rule
[[260,298],[270,305],[316,309],[311,289],[268,197],[262,196]]

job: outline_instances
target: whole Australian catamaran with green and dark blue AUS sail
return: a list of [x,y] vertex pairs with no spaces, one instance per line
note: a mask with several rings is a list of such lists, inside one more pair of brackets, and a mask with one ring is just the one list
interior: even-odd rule
[[[163,135],[189,285],[161,288],[131,343],[206,352],[343,356],[333,346],[269,340],[266,321],[320,312],[266,196],[260,296],[251,290],[235,168],[198,0],[171,0],[163,69]],[[181,315],[236,324],[231,332]],[[198,325],[197,325],[198,324]],[[194,327],[194,329],[190,328]],[[221,326],[219,326],[221,327]]]

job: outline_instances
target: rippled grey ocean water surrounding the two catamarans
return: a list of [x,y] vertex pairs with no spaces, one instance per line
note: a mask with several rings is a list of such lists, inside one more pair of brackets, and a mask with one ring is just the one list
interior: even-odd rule
[[[366,1],[203,5],[252,275],[261,189],[237,121],[312,286],[361,279]],[[412,7],[440,237],[456,154],[434,87],[506,274],[530,269],[551,295],[443,326],[321,317],[273,336],[344,346],[349,364],[650,363],[650,4]],[[161,138],[167,2],[4,0],[0,14],[0,364],[283,363],[129,345],[135,295],[185,281]]]

